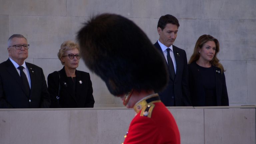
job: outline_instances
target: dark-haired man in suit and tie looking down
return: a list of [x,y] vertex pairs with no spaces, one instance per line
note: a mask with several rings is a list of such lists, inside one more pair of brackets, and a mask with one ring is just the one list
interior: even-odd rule
[[177,18],[169,14],[161,16],[157,24],[159,40],[154,46],[166,59],[169,71],[169,83],[159,93],[165,106],[191,106],[186,52],[173,45],[179,26]]

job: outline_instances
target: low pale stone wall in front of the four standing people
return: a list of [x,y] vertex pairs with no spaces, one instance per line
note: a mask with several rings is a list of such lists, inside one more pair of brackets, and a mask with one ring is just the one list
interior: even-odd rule
[[[254,107],[169,108],[181,144],[255,144]],[[0,109],[1,144],[120,144],[126,108]]]

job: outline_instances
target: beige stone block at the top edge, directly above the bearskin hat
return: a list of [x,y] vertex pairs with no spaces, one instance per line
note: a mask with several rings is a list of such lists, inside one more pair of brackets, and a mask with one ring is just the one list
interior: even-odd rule
[[[154,11],[152,11],[154,9]],[[152,18],[161,14],[160,0],[77,0],[67,1],[67,16],[94,16],[115,13],[125,17]]]

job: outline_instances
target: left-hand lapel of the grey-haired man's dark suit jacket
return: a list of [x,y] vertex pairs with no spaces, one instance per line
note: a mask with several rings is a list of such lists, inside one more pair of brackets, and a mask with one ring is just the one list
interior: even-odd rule
[[14,65],[10,59],[7,60],[7,71],[11,74],[11,76],[15,79],[15,81],[18,83],[18,85],[22,88],[23,92],[26,94],[25,87],[22,83],[20,75],[18,74],[16,68],[14,67]]

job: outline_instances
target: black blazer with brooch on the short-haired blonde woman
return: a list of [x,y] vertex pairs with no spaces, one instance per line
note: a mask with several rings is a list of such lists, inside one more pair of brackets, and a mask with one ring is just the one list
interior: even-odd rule
[[60,73],[60,95],[59,103],[56,99],[59,90],[59,74],[53,72],[48,75],[48,91],[51,96],[53,108],[92,108],[94,105],[94,98],[92,95],[92,82],[90,74],[83,71],[76,70],[76,95],[72,94],[72,87],[67,83],[67,75],[64,67],[59,71]]

